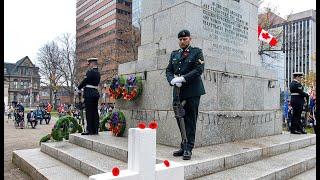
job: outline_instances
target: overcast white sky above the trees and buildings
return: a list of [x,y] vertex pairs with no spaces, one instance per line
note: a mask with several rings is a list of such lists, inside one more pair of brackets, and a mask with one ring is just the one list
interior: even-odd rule
[[[268,5],[284,17],[316,9],[316,0],[264,0],[262,6]],[[5,62],[24,56],[35,62],[41,46],[63,33],[75,35],[75,30],[76,0],[4,0]]]

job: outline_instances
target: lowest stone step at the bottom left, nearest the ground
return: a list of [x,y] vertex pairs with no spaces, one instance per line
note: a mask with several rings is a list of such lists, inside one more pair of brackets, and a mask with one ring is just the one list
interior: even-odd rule
[[89,177],[40,151],[40,148],[16,150],[12,162],[37,180],[86,180]]

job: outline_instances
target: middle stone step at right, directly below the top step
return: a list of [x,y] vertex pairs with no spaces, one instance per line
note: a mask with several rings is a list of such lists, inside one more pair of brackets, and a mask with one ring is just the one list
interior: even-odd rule
[[260,161],[210,174],[206,179],[289,179],[316,166],[316,145],[272,156]]

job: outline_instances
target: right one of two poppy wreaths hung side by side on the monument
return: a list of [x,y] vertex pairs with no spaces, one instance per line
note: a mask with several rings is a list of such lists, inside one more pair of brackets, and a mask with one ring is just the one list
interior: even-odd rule
[[142,93],[142,78],[141,76],[136,77],[135,75],[130,75],[127,78],[126,84],[123,89],[123,99],[126,101],[132,101],[139,97]]

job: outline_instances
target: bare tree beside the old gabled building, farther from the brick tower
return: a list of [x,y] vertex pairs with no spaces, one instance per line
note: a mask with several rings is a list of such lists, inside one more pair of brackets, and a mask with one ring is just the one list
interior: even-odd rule
[[[62,78],[62,73],[58,68],[62,62],[57,43],[54,41],[48,42],[39,49],[37,56],[39,73],[44,79],[41,83],[49,87],[50,103],[52,104],[52,93],[58,91]],[[55,99],[54,108],[56,107]]]

